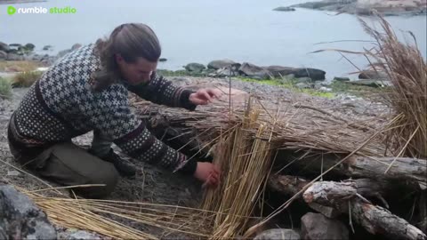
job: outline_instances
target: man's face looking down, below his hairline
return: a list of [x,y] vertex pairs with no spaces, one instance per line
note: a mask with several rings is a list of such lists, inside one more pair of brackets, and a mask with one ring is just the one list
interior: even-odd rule
[[134,63],[125,62],[121,56],[117,56],[116,60],[125,81],[132,85],[148,83],[157,68],[157,61],[151,62],[144,58],[138,58]]

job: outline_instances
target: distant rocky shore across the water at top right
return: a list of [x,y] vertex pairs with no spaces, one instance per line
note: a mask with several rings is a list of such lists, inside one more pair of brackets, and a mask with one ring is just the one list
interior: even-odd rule
[[293,11],[294,8],[308,8],[331,12],[347,12],[371,15],[380,12],[384,16],[426,14],[426,0],[323,0],[278,7],[275,11]]

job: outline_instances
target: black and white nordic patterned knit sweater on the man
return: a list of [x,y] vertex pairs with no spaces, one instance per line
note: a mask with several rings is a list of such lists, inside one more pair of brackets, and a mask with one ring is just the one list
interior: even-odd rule
[[114,140],[125,154],[159,164],[165,169],[191,174],[196,162],[152,135],[133,114],[128,91],[142,99],[170,107],[188,108],[189,90],[153,74],[149,84],[131,86],[120,81],[94,92],[91,76],[101,68],[94,44],[68,53],[33,84],[9,123],[8,139],[25,159],[33,159],[55,143],[97,130]]

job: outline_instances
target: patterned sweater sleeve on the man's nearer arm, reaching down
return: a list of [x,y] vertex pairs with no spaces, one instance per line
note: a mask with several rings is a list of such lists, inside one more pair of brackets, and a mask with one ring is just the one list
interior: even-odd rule
[[[112,86],[114,88],[114,86]],[[167,146],[149,132],[131,111],[125,92],[111,91],[98,97],[96,111],[86,114],[93,129],[105,132],[127,156],[172,172],[193,174],[197,162]]]

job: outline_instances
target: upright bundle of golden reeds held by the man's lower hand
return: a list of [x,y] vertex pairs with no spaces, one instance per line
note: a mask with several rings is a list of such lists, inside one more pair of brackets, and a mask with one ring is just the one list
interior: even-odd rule
[[[203,209],[218,212],[211,239],[235,238],[246,231],[269,176],[272,150],[270,142],[260,137],[271,130],[257,123],[259,111],[250,106],[243,122],[233,127],[216,148],[214,164],[222,169],[222,183],[205,193],[202,204]],[[249,131],[254,130],[252,138]]]

